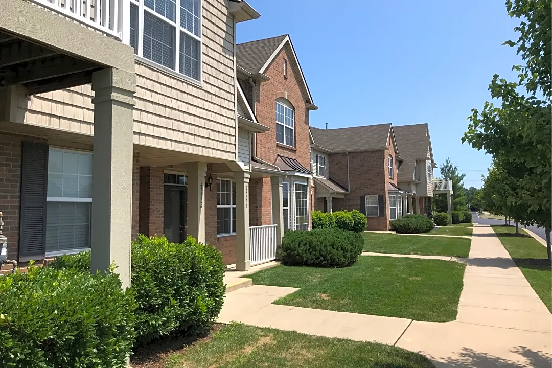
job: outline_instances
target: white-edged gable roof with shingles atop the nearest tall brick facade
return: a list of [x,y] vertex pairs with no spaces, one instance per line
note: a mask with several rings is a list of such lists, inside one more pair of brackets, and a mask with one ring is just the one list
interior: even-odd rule
[[295,70],[298,72],[297,74],[301,82],[300,87],[306,95],[306,102],[311,104],[312,108],[316,110],[317,107],[312,101],[309,86],[307,86],[289,34],[236,44],[236,64],[251,74],[263,74],[285,46],[289,47],[290,61],[293,62],[292,65],[294,65]]

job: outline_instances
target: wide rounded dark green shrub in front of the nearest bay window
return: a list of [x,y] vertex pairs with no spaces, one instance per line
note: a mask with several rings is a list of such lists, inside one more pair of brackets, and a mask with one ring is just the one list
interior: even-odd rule
[[363,236],[353,231],[290,231],[282,241],[282,262],[286,265],[344,267],[357,262],[363,246]]

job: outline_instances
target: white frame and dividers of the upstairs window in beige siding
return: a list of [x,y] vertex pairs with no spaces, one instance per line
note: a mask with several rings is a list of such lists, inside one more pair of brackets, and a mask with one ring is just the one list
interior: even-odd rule
[[[174,22],[168,18],[163,17],[163,15],[158,14],[155,12],[155,10],[152,10],[145,6],[144,0],[136,1],[136,0],[130,0],[130,3],[138,7],[138,29],[136,30],[136,42],[138,42],[138,50],[137,54],[134,56],[147,64],[150,64],[152,66],[155,66],[156,68],[160,68],[163,71],[167,71],[169,73],[173,73],[178,77],[181,77],[185,79],[186,81],[193,82],[195,84],[199,84],[199,86],[203,86],[203,0],[199,0],[199,36],[194,35],[189,30],[182,28],[180,25],[180,3],[181,1],[186,0],[176,0],[175,5],[175,20]],[[130,11],[130,10],[129,10]],[[162,22],[165,22],[172,27],[174,27],[174,70],[172,68],[166,67],[164,65],[161,65],[160,63],[157,63],[153,60],[150,60],[148,58],[145,58],[144,55],[144,12],[147,12],[150,15],[153,15],[154,17],[157,17],[157,19],[160,19]],[[194,40],[199,41],[199,63],[198,63],[198,73],[199,73],[199,79],[194,79],[192,77],[188,77],[185,74],[180,72],[180,33],[184,32],[187,36],[190,36]],[[130,39],[127,38],[126,44],[130,45]]]

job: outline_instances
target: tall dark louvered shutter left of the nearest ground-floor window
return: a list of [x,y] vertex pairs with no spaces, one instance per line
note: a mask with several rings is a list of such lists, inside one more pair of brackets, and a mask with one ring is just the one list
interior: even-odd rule
[[48,145],[23,142],[19,261],[43,259],[46,253]]

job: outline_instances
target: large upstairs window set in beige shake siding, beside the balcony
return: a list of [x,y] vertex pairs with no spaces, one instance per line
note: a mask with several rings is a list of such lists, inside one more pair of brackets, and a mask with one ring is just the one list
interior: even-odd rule
[[201,0],[130,0],[129,44],[136,55],[200,81]]

